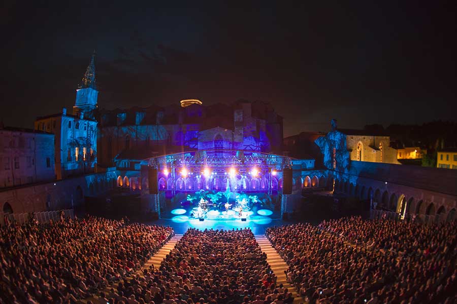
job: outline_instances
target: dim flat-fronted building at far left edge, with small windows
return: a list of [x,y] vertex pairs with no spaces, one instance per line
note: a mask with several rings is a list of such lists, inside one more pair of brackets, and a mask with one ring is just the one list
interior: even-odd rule
[[0,188],[53,179],[53,134],[0,127]]

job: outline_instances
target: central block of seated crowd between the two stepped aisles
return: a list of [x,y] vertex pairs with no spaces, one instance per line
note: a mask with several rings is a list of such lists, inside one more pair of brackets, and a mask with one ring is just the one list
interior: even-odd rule
[[251,230],[189,229],[158,269],[102,297],[117,303],[291,303]]

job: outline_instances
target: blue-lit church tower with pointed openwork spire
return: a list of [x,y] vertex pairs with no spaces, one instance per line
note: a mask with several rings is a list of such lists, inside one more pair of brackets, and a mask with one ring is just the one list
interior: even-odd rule
[[73,107],[73,115],[93,118],[93,111],[97,107],[97,91],[95,84],[95,50],[90,58],[89,65],[86,68],[81,84],[76,90],[76,101]]

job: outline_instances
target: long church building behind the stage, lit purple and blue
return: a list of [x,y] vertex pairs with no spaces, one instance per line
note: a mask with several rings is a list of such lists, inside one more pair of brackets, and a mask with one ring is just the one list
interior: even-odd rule
[[282,117],[263,102],[101,110],[99,126],[99,164],[125,170],[181,151],[279,152],[282,146]]

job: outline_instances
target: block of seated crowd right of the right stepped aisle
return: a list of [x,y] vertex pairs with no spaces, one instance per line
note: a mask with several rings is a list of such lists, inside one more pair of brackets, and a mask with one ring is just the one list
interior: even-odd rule
[[350,217],[271,227],[267,237],[310,303],[457,302],[457,221]]

